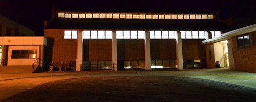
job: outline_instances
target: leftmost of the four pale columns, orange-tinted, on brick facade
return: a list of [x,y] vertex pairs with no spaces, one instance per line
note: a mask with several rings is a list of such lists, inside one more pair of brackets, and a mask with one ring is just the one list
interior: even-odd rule
[[81,71],[82,64],[82,31],[77,33],[77,59],[76,59],[76,71]]

